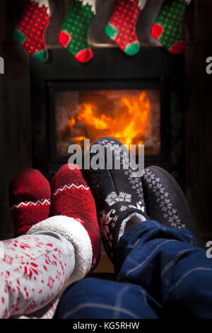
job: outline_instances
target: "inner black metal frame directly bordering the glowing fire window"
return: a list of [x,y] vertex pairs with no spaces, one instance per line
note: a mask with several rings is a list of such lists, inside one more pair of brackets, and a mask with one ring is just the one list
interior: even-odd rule
[[[139,89],[157,90],[160,94],[160,154],[148,155],[145,157],[146,164],[158,164],[165,162],[170,152],[169,135],[169,108],[167,92],[167,81],[158,79],[124,79],[124,80],[69,80],[69,81],[48,81],[47,83],[47,140],[49,152],[49,164],[67,163],[67,157],[57,156],[56,142],[56,111],[54,105],[55,91],[80,91],[80,90],[119,90],[119,89]],[[68,155],[68,154],[67,154]]]

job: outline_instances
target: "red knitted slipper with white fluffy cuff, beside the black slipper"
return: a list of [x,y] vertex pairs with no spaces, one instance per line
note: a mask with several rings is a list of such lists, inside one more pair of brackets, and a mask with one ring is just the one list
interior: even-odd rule
[[[69,166],[72,169],[69,169]],[[66,164],[52,179],[52,216],[37,223],[28,232],[57,232],[71,242],[75,268],[70,281],[86,276],[98,264],[100,231],[95,201],[78,166]]]

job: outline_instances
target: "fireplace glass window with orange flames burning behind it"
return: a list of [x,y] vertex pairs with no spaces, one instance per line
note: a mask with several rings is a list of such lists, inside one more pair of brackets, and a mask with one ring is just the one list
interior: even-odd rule
[[57,157],[71,144],[115,137],[126,147],[145,145],[145,154],[160,155],[160,91],[112,89],[54,91]]

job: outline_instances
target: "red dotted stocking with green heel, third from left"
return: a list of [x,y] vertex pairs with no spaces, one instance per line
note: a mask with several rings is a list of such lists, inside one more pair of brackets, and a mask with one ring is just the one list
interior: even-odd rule
[[139,40],[136,35],[138,16],[138,0],[117,0],[110,21],[105,26],[106,35],[127,55],[139,52]]

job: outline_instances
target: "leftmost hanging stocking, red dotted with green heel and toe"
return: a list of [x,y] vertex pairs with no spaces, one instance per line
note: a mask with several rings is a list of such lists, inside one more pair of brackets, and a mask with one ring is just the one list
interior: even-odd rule
[[13,38],[37,60],[47,60],[45,31],[49,26],[49,0],[27,0]]

